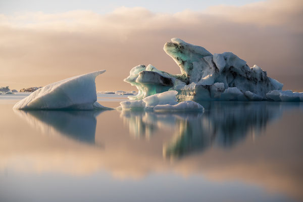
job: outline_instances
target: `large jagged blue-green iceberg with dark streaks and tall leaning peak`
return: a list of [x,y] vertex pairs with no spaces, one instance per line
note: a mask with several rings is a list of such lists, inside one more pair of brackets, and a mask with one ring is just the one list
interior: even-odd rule
[[[282,91],[283,84],[268,77],[259,66],[249,68],[233,53],[212,55],[204,47],[178,38],[171,40],[164,45],[164,51],[180,67],[181,74],[169,74],[152,65],[138,65],[124,79],[139,90],[137,95],[129,96],[130,99],[176,90],[179,100],[302,100],[297,98],[301,96],[298,93]],[[276,91],[281,94],[279,99],[271,96]]]

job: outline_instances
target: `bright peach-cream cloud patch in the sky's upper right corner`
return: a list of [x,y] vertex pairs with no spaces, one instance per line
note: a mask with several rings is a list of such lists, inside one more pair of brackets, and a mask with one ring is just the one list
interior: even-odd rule
[[215,6],[206,13],[227,18],[237,23],[251,23],[258,26],[284,26],[292,31],[302,32],[297,26],[303,17],[303,2],[299,0],[270,0],[257,2],[241,7]]

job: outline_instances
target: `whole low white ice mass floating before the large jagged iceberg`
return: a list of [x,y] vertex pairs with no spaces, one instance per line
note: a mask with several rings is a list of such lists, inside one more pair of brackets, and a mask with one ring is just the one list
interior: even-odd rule
[[123,110],[154,110],[154,111],[204,111],[204,108],[193,101],[177,102],[176,90],[165,91],[154,95],[149,95],[139,100],[127,100],[121,102],[121,108]]

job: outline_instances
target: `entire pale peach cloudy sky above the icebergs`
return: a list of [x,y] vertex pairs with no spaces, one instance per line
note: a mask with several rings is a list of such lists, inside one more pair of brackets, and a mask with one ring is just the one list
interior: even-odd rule
[[0,86],[44,86],[106,69],[97,90],[135,90],[123,82],[139,64],[170,73],[171,38],[211,53],[233,52],[303,90],[303,2],[0,1]]

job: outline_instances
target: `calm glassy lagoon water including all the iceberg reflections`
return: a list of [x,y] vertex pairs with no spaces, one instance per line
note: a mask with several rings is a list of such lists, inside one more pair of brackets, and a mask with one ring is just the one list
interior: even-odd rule
[[0,97],[0,201],[303,200],[301,103],[13,110],[19,99]]

